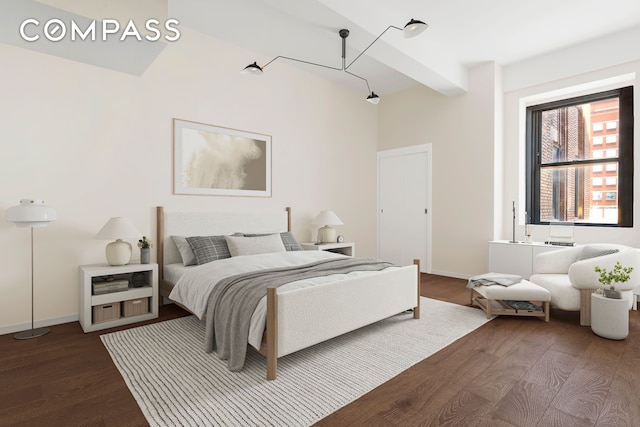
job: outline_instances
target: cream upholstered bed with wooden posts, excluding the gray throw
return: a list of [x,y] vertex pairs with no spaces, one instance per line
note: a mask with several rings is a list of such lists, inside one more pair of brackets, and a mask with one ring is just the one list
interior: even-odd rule
[[[325,251],[289,251],[291,242],[286,242],[285,236],[292,239],[290,208],[268,212],[165,212],[162,206],[158,206],[156,212],[160,295],[178,303],[201,319],[207,317],[207,322],[213,321],[213,316],[205,316],[207,301],[199,299],[207,299],[210,295],[207,292],[211,292],[215,286],[198,285],[209,286],[209,290],[203,291],[204,288],[195,287],[195,280],[208,275],[222,274],[219,272],[223,271],[223,268],[235,271],[233,269],[240,266],[250,268],[249,266],[253,265],[251,263],[255,263],[255,268],[262,268],[260,266],[271,266],[271,263],[275,262],[279,264],[274,264],[277,268],[273,270],[279,271],[280,266],[295,264],[292,268],[298,268],[298,265],[312,259],[314,263],[323,265],[355,265],[360,262],[360,259],[346,260],[344,258],[350,257]],[[183,258],[185,252],[182,239],[189,237],[189,241],[195,244],[198,238],[194,236],[239,236],[237,240],[236,237],[225,237],[230,245],[235,245],[236,241],[242,244],[247,240],[273,241],[273,236],[280,236],[279,239],[286,249],[283,253],[232,256],[203,262],[200,265],[185,266],[187,262],[186,258]],[[243,237],[256,239],[242,239]],[[294,240],[291,244],[293,248],[297,242]],[[241,251],[238,253],[239,249],[235,246],[232,246],[232,249],[236,252],[234,255],[244,255]],[[202,251],[198,251],[197,248],[196,252],[202,255]],[[318,261],[315,261],[316,257]],[[194,260],[191,261],[193,263]],[[266,357],[267,379],[276,379],[279,357],[407,310],[412,310],[413,317],[419,318],[418,260],[408,266],[382,267],[384,266],[375,267],[380,268],[379,271],[364,272],[352,271],[357,270],[352,266],[345,274],[308,279],[309,285],[304,281],[295,282],[304,282],[301,286],[280,284],[280,287],[276,287],[271,286],[271,282],[267,283],[269,286],[266,286],[266,296],[261,298],[251,316],[248,339],[243,343],[245,347],[254,347]],[[269,274],[269,269],[260,270],[258,276],[260,279],[272,277]],[[262,293],[264,294],[264,290]],[[187,294],[190,296],[185,297]],[[160,301],[162,303],[162,298]]]

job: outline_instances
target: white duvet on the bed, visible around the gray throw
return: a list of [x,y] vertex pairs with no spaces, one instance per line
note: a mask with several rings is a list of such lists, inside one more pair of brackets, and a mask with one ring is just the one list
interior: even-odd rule
[[[174,282],[175,287],[171,291],[169,298],[184,305],[198,316],[198,318],[202,319],[207,310],[207,301],[209,300],[209,295],[213,287],[225,277],[260,269],[304,265],[314,261],[340,257],[344,257],[344,255],[326,251],[293,251],[236,256],[198,266],[170,267],[167,270],[171,271],[172,276],[177,277],[181,274],[181,277]],[[165,270],[165,274],[167,270]],[[360,277],[376,273],[377,272],[375,271],[356,271],[348,274],[334,274],[330,276],[316,277],[313,279],[299,280],[281,286],[278,288],[278,292],[287,292],[307,286],[322,285],[346,278]],[[255,348],[260,348],[266,319],[267,297],[265,296],[258,303],[258,306],[251,317],[248,341],[249,344]]]

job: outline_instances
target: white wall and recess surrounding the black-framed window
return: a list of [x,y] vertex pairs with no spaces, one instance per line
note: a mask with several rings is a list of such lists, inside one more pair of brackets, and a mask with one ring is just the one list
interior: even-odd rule
[[[513,72],[513,70],[512,70]],[[524,70],[522,72],[525,72]],[[598,71],[577,74],[572,77],[550,81],[544,84],[513,90],[504,95],[504,170],[505,179],[501,191],[504,192],[502,211],[511,212],[512,200],[516,201],[518,209],[518,225],[516,238],[524,239],[524,203],[525,203],[525,139],[524,139],[524,104],[523,100],[530,97],[555,96],[569,98],[585,93],[600,92],[611,87],[621,87],[619,81],[626,81],[624,86],[637,84],[633,74],[640,76],[640,61],[628,62],[623,65],[610,67]],[[549,100],[552,100],[550,98]],[[544,101],[540,101],[544,102]],[[634,200],[640,200],[640,94],[637,88],[634,92],[634,110],[636,121],[634,129],[635,159],[634,159]],[[638,221],[640,220],[638,204],[634,206],[634,224],[632,228],[617,227],[575,227],[575,241],[577,243],[610,242],[640,247]],[[511,239],[511,223],[502,221],[503,227],[497,230],[496,238]],[[532,226],[533,240],[543,241],[549,233],[548,226]]]

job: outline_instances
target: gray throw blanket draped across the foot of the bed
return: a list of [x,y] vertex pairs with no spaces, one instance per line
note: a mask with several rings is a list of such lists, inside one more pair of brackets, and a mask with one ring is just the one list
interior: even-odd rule
[[393,264],[377,259],[330,259],[297,267],[274,268],[230,276],[213,288],[207,305],[205,351],[216,350],[227,360],[229,370],[244,365],[251,316],[267,286],[284,284],[318,276],[346,274],[352,271],[380,271]]

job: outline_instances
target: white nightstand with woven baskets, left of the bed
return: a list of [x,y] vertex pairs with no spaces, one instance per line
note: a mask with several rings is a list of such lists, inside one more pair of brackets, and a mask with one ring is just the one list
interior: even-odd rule
[[[94,295],[93,284],[107,280],[129,283],[126,290]],[[158,264],[81,265],[78,286],[80,325],[85,332],[158,317]]]

